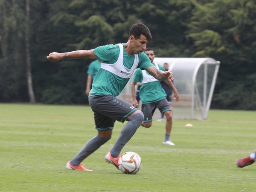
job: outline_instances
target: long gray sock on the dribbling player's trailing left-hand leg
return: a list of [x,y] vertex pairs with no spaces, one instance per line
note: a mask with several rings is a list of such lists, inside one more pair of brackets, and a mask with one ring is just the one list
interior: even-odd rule
[[101,138],[99,135],[90,139],[85,145],[84,148],[79,151],[78,154],[70,161],[73,166],[78,166],[86,157],[96,151],[101,145],[110,140],[111,137]]

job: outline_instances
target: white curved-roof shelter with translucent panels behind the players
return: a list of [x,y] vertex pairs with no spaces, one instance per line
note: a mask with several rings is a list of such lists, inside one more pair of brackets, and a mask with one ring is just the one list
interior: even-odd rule
[[[180,101],[172,98],[173,118],[207,119],[220,61],[213,58],[154,58],[154,62],[161,65],[168,63],[169,70],[174,74]],[[132,78],[118,96],[129,103],[132,100],[131,82]],[[159,110],[153,118],[160,118]]]

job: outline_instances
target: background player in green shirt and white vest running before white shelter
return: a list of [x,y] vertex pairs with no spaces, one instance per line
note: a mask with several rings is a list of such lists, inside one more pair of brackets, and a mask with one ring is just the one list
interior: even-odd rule
[[[154,50],[151,48],[145,49],[146,55],[150,59],[151,63],[159,70],[166,71],[162,65],[154,63]],[[165,80],[169,87],[172,87],[174,91],[174,97],[179,100],[179,95],[174,84],[167,79]],[[175,145],[169,140],[172,131],[172,112],[169,102],[166,99],[166,92],[160,84],[160,81],[151,76],[146,70],[137,69],[134,73],[133,83],[131,85],[131,93],[134,107],[137,107],[138,102],[135,97],[135,85],[137,82],[141,82],[140,87],[140,99],[142,101],[142,112],[144,114],[143,123],[141,124],[145,128],[150,128],[152,125],[152,116],[156,108],[160,110],[162,114],[166,116],[166,134],[164,145]]]

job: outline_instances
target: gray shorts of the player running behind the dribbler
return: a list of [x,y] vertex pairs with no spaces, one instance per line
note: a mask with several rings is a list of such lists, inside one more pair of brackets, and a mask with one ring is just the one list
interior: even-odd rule
[[144,114],[143,122],[151,122],[152,121],[152,116],[153,116],[156,108],[158,108],[162,114],[165,113],[166,111],[171,111],[169,102],[167,101],[166,98],[164,98],[158,102],[142,104],[141,111]]

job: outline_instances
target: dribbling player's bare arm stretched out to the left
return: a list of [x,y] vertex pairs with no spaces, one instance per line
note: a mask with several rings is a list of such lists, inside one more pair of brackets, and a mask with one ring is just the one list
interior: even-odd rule
[[51,61],[59,61],[63,58],[91,58],[96,59],[97,56],[93,52],[94,49],[90,50],[77,50],[71,52],[51,52],[47,59]]

